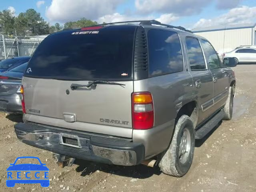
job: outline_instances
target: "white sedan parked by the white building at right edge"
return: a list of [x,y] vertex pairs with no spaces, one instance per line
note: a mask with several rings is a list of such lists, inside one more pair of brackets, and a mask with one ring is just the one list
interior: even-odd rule
[[256,63],[256,48],[241,47],[235,50],[224,53],[223,58],[235,57],[238,59],[238,63]]

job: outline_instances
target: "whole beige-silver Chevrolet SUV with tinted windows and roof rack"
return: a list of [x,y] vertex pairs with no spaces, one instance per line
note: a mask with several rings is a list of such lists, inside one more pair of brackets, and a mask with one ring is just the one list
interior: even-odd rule
[[15,132],[62,166],[158,165],[180,177],[195,139],[232,118],[237,60],[224,64],[205,38],[155,20],[57,32],[28,63]]

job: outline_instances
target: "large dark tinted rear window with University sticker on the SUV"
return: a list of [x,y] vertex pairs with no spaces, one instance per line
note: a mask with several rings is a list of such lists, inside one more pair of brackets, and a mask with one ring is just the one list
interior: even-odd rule
[[128,80],[132,78],[135,29],[109,26],[94,32],[67,30],[52,34],[36,49],[25,76]]

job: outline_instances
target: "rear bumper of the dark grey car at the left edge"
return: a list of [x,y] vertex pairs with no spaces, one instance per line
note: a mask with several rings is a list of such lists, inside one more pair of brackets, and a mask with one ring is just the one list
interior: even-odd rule
[[21,94],[0,95],[0,111],[22,114]]

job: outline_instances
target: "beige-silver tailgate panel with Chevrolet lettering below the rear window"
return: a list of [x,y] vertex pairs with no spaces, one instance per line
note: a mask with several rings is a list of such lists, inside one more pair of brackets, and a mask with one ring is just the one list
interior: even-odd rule
[[97,84],[96,88],[71,90],[67,81],[24,77],[26,120],[46,125],[114,136],[132,137],[131,94],[125,86]]

